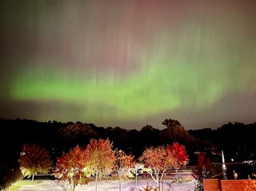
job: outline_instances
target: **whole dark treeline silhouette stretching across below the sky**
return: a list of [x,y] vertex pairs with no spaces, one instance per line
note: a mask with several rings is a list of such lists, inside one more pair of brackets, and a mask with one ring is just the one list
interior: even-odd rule
[[[190,163],[196,162],[196,152],[204,152],[212,161],[221,161],[220,151],[232,156],[237,152],[255,159],[256,124],[229,123],[217,130],[185,130],[176,120],[165,119],[165,129],[154,129],[151,125],[141,130],[126,130],[119,127],[103,128],[81,122],[61,123],[56,121],[37,122],[28,119],[0,118],[0,164],[17,164],[17,159],[25,143],[35,143],[46,147],[56,160],[62,152],[68,152],[76,145],[86,146],[91,138],[109,138],[114,148],[132,153],[135,158],[142,155],[145,147],[178,142],[186,146]],[[253,144],[254,142],[254,144]],[[217,147],[215,146],[217,145]],[[218,149],[217,149],[218,148]],[[241,160],[241,155],[235,160]]]

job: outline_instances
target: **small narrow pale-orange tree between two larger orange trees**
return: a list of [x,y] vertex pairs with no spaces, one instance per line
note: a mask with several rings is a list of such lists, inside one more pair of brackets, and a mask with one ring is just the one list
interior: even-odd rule
[[122,150],[114,151],[114,171],[117,172],[119,180],[119,190],[121,190],[121,180],[127,177],[133,177],[134,157],[126,155]]

